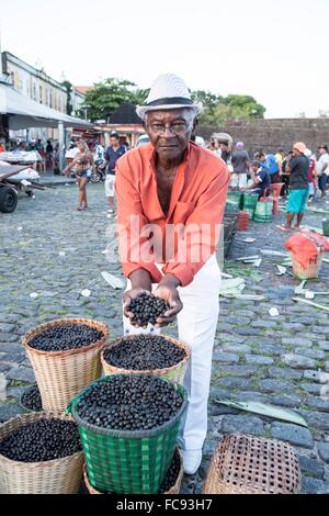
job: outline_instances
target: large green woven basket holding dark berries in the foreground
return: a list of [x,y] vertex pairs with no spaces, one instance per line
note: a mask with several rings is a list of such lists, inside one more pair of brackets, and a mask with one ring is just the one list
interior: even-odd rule
[[83,394],[97,383],[111,382],[122,375],[92,382],[73,397],[67,413],[72,414],[78,424],[92,485],[121,494],[156,494],[173,458],[180,422],[188,405],[186,391],[180,384],[175,386],[183,396],[181,408],[170,422],[150,430],[111,430],[83,422],[77,413]]

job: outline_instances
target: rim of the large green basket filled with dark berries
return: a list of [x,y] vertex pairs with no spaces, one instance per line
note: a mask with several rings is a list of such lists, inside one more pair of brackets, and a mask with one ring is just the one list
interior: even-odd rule
[[[183,396],[183,403],[177,414],[169,420],[163,423],[160,426],[157,426],[156,428],[150,428],[149,430],[117,430],[117,429],[111,429],[111,428],[101,428],[97,425],[92,425],[90,423],[86,423],[81,417],[79,416],[77,412],[77,404],[79,403],[80,399],[83,396],[86,392],[88,392],[89,389],[91,389],[93,385],[98,383],[107,383],[113,381],[114,378],[117,377],[124,377],[127,378],[128,374],[110,374],[106,377],[103,377],[99,380],[95,380],[94,382],[91,382],[89,385],[87,385],[84,389],[82,389],[77,396],[71,400],[70,404],[67,407],[67,412],[71,413],[73,416],[73,419],[76,423],[84,428],[86,430],[93,431],[95,434],[100,434],[102,436],[109,436],[109,437],[116,437],[121,439],[147,439],[150,437],[156,437],[160,434],[163,433],[163,430],[167,430],[169,428],[172,428],[175,423],[181,418],[182,414],[185,412],[188,407],[188,392],[185,388],[179,383],[172,383],[169,380],[162,378],[162,377],[157,377],[159,381],[170,383],[175,390],[180,392],[180,394]],[[145,378],[146,374],[134,374],[135,377],[141,377]],[[150,375],[154,378],[152,375]]]

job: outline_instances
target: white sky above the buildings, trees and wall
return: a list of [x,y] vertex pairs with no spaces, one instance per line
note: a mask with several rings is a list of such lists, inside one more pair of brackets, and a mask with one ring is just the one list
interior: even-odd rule
[[266,117],[329,110],[329,0],[0,0],[2,49],[75,85],[163,72],[251,94]]

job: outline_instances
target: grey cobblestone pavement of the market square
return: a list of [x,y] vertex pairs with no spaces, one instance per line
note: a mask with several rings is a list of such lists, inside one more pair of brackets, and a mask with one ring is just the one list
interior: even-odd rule
[[[82,316],[107,323],[114,336],[122,334],[122,292],[101,277],[103,270],[121,273],[120,265],[109,263],[102,254],[109,224],[103,186],[89,186],[88,198],[90,210],[77,212],[76,187],[60,186],[37,192],[34,200],[20,197],[14,213],[0,214],[1,422],[20,413],[18,397],[34,379],[20,344],[27,329],[53,318]],[[306,221],[319,227],[321,218],[309,212]],[[184,480],[183,493],[201,491],[216,444],[235,431],[291,442],[299,456],[304,492],[329,493],[329,396],[324,395],[329,378],[328,313],[292,301],[299,281],[276,276],[280,258],[264,257],[258,269],[235,261],[261,248],[284,251],[286,234],[275,224],[252,223],[247,233],[238,233],[226,262],[226,272],[234,268],[236,276],[246,278],[245,292],[268,299],[220,301],[204,459],[198,473]],[[242,242],[247,236],[256,242]],[[329,291],[329,263],[322,263],[320,280],[307,285]],[[81,295],[84,289],[91,291],[89,298]],[[328,298],[316,301],[328,303]],[[269,315],[271,306],[277,307],[277,317]],[[174,332],[172,327],[167,333]],[[230,410],[216,399],[296,408],[309,428]]]

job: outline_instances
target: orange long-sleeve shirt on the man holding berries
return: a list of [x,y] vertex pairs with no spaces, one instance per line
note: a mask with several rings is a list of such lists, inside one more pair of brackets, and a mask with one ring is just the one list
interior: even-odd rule
[[[158,283],[174,274],[182,287],[214,253],[229,183],[226,164],[190,143],[179,166],[164,214],[158,198],[155,150],[137,147],[116,162],[120,255],[126,277],[146,269]],[[174,236],[173,236],[174,235]]]

